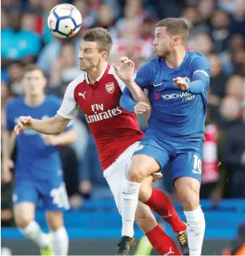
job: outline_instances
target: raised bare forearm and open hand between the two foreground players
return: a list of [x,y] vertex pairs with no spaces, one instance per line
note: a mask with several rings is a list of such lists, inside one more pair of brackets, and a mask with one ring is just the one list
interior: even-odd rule
[[141,87],[137,85],[137,83],[133,80],[133,69],[134,63],[130,59],[126,57],[120,58],[120,66],[112,64],[116,75],[126,84],[129,88],[131,95],[133,96],[133,100],[135,102],[144,102],[147,103],[148,106],[151,106],[151,103],[148,97],[144,94],[144,91],[141,90]]

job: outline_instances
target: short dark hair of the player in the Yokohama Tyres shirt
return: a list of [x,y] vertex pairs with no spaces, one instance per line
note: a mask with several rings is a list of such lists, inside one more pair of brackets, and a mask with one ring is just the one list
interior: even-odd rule
[[185,43],[188,39],[188,25],[185,20],[178,18],[166,18],[156,24],[156,28],[165,27],[170,35],[177,35]]

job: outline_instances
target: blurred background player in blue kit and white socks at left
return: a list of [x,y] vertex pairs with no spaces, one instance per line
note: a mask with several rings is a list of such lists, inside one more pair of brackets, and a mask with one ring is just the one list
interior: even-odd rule
[[[10,100],[6,106],[2,171],[4,180],[10,178],[9,159],[11,148],[13,149],[10,138],[18,117],[31,115],[38,119],[49,118],[60,108],[60,100],[57,97],[45,95],[46,77],[37,66],[27,67],[23,85],[24,97]],[[68,234],[64,228],[62,211],[68,209],[69,204],[57,145],[74,141],[75,131],[71,125],[60,135],[42,135],[32,129],[26,129],[16,137],[14,217],[20,231],[38,245],[41,254],[68,254]],[[53,232],[53,239],[43,233],[35,222],[35,206],[39,199],[42,199],[46,208],[46,221]]]

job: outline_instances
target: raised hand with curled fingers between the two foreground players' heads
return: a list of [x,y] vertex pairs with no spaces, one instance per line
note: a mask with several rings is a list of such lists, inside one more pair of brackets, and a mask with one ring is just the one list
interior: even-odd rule
[[120,58],[120,65],[117,66],[114,63],[112,64],[115,73],[123,82],[130,82],[133,80],[133,70],[134,70],[134,63],[130,61],[127,57]]

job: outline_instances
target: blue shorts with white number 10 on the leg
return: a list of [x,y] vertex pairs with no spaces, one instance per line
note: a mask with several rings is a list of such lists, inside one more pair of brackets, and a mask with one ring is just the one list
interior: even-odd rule
[[170,161],[173,181],[189,176],[201,181],[202,138],[181,139],[158,136],[148,130],[133,155],[146,154],[159,162],[161,169]]

